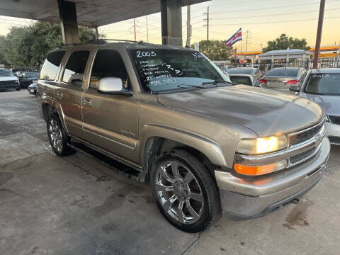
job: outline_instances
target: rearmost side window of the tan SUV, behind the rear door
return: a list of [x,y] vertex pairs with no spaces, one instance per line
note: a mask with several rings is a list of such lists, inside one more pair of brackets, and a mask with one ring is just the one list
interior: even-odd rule
[[62,62],[62,57],[64,57],[64,51],[51,52],[42,64],[42,68],[40,70],[39,79],[45,80],[54,80],[57,76],[58,69],[60,67],[60,63]]

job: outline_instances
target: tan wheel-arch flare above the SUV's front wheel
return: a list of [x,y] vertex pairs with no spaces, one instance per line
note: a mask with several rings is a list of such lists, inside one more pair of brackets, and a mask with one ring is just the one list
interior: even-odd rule
[[142,166],[145,166],[146,163],[144,162],[145,159],[143,157],[145,154],[145,145],[147,145],[147,141],[152,137],[161,137],[175,142],[181,142],[183,145],[193,147],[202,152],[205,157],[208,157],[212,164],[227,166],[222,150],[216,142],[185,130],[179,130],[159,124],[145,125],[142,129],[142,139],[140,141],[140,161],[142,162]]

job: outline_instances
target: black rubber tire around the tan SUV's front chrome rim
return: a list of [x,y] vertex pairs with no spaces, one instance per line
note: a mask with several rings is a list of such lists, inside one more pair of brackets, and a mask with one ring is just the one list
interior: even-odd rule
[[[208,191],[212,192],[216,190],[216,186],[213,183],[210,174],[208,173],[209,170],[203,166],[203,163],[198,161],[198,159],[196,159],[192,155],[191,155],[191,158],[183,157],[183,154],[186,154],[186,153],[188,152],[185,152],[182,149],[175,149],[175,150],[172,150],[171,152],[165,152],[160,157],[158,157],[152,166],[150,182],[152,184],[151,185],[152,195],[154,196],[154,200],[156,201],[157,207],[159,208],[160,212],[162,212],[162,215],[164,215],[166,220],[168,220],[175,227],[185,232],[193,233],[193,232],[202,231],[203,229],[209,227],[210,223],[213,222],[212,217],[214,214],[216,214],[216,212],[211,211],[212,209],[211,205],[212,203],[216,203],[216,199],[215,200],[211,199],[211,194],[209,196]],[[163,162],[169,159],[175,159],[176,161],[179,161],[181,162],[181,164],[188,167],[188,169],[190,169],[192,174],[196,177],[200,185],[201,191],[203,193],[203,199],[204,199],[203,212],[202,212],[200,219],[197,222],[194,222],[193,224],[187,225],[187,224],[183,224],[181,222],[174,220],[167,212],[165,212],[165,210],[162,207],[162,204],[159,201],[157,191],[155,190],[155,186],[154,186],[154,180],[156,177],[155,175],[157,172],[156,170],[160,164],[162,164]],[[203,179],[205,180],[204,183],[203,183]],[[212,196],[216,196],[216,194]],[[217,196],[215,198],[217,198]],[[217,199],[217,203],[219,203],[218,199]],[[215,205],[213,208],[220,208],[220,207]]]

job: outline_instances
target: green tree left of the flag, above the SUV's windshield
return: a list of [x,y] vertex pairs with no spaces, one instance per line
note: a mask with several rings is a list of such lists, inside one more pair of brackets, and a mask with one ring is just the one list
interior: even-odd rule
[[[200,52],[210,60],[229,60],[234,56],[235,50],[227,47],[225,40],[201,40]],[[193,48],[194,45],[191,45]]]

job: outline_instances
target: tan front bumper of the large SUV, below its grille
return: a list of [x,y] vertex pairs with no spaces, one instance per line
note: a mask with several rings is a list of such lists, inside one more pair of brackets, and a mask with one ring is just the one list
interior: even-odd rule
[[215,171],[223,212],[259,217],[302,196],[322,178],[329,151],[329,140],[324,137],[316,156],[290,169],[253,179]]

